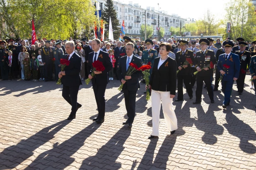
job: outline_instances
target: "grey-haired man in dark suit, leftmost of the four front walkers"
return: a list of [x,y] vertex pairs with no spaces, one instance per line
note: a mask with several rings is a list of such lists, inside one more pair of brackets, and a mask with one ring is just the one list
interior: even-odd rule
[[68,120],[72,120],[75,118],[77,110],[82,107],[81,104],[77,103],[79,86],[82,85],[80,78],[82,59],[75,53],[75,44],[73,41],[67,41],[65,47],[68,53],[65,57],[70,61],[70,64],[65,66],[64,71],[60,71],[58,76],[61,78],[61,83],[63,84],[62,96],[72,106],[71,113],[68,116]]

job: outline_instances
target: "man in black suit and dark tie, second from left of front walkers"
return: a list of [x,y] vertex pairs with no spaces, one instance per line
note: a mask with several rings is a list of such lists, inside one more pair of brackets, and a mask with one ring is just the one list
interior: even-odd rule
[[[101,51],[99,48],[101,46],[101,42],[99,39],[95,38],[92,40],[92,50],[94,52],[89,53],[89,62],[87,66],[87,71],[89,73],[89,79],[92,79],[92,88],[94,91],[94,96],[97,103],[98,108],[98,116],[93,120],[96,123],[103,123],[105,117],[105,91],[106,85],[109,82],[108,72],[113,68],[111,59],[109,57],[109,53]],[[92,63],[94,61],[101,61],[105,67],[104,71],[94,71],[95,76],[92,77]]]

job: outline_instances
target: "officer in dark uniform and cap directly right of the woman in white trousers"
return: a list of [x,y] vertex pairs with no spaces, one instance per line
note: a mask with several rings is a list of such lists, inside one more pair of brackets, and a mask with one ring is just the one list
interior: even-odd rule
[[186,87],[189,99],[193,98],[193,91],[190,85],[191,81],[191,64],[184,65],[184,62],[186,61],[186,58],[191,59],[193,62],[194,59],[194,54],[193,51],[187,50],[187,44],[188,42],[185,40],[180,40],[179,41],[180,46],[181,46],[181,51],[176,53],[176,63],[177,63],[177,68],[179,69],[179,73],[177,74],[178,76],[178,97],[175,100],[176,102],[178,101],[183,101],[183,82]]

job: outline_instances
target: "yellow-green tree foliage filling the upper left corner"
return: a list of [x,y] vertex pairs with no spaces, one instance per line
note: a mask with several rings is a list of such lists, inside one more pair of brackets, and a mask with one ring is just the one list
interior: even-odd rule
[[[0,0],[0,35],[31,37],[32,19],[39,38],[80,38],[96,20],[90,0]],[[88,28],[89,26],[89,28]]]

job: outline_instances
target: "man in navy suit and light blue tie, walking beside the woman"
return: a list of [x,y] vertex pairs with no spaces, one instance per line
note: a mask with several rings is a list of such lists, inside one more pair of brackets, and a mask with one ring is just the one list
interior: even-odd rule
[[141,71],[135,71],[131,76],[126,76],[126,71],[128,70],[130,62],[141,67],[141,59],[133,55],[134,45],[133,43],[126,44],[126,54],[127,56],[120,58],[119,67],[117,70],[117,75],[119,80],[123,84],[123,94],[126,103],[126,111],[128,120],[123,124],[128,124],[128,127],[132,127],[133,120],[135,117],[135,102],[136,93],[139,87],[139,78],[143,75]]

